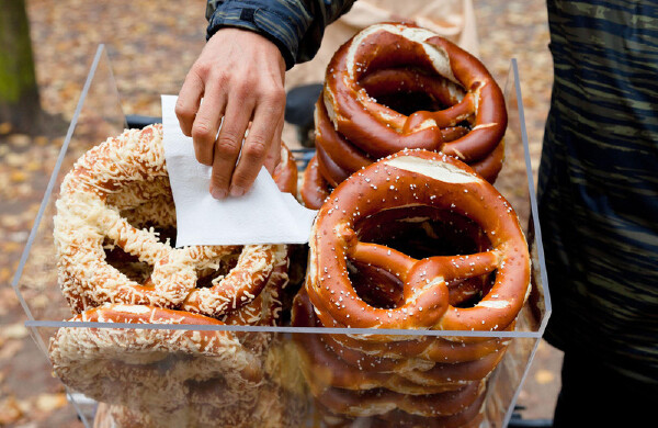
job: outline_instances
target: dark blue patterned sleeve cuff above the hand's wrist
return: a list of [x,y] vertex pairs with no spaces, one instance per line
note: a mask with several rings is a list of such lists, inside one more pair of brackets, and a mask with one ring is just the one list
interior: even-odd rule
[[231,26],[254,31],[273,42],[286,68],[311,59],[325,27],[352,7],[354,0],[208,0],[206,40]]

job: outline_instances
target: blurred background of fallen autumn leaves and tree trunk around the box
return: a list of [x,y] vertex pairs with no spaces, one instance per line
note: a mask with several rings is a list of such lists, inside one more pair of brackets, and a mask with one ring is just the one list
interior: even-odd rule
[[[553,79],[545,2],[473,4],[478,56],[501,85],[518,60],[536,176]],[[159,116],[160,94],[178,94],[205,44],[204,14],[203,0],[0,0],[0,427],[82,426],[23,326],[11,282],[98,45],[123,112]],[[324,72],[321,60],[305,67]],[[293,69],[286,87],[308,76]],[[295,146],[295,136],[286,125],[284,139]],[[518,401],[524,419],[552,417],[560,364],[542,341]]]

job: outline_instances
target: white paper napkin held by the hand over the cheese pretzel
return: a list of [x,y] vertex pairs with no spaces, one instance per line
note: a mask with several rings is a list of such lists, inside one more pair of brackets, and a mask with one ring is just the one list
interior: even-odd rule
[[263,167],[240,198],[209,193],[212,168],[194,156],[192,138],[175,116],[178,97],[162,95],[164,158],[175,203],[177,247],[188,245],[305,244],[316,211],[282,193]]

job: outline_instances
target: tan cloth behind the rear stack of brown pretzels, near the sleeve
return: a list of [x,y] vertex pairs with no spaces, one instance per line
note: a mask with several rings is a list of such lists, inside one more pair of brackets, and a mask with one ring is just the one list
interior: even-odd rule
[[316,57],[286,74],[286,89],[325,79],[327,64],[341,44],[366,26],[387,21],[413,21],[478,56],[473,0],[359,0],[327,27]]

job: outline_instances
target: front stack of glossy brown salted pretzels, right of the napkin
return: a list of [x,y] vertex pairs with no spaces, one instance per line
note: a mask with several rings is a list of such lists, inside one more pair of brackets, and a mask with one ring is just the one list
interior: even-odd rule
[[397,330],[296,335],[326,420],[476,424],[507,341],[405,331],[514,327],[530,256],[504,198],[453,157],[402,150],[333,190],[309,246],[295,325]]

